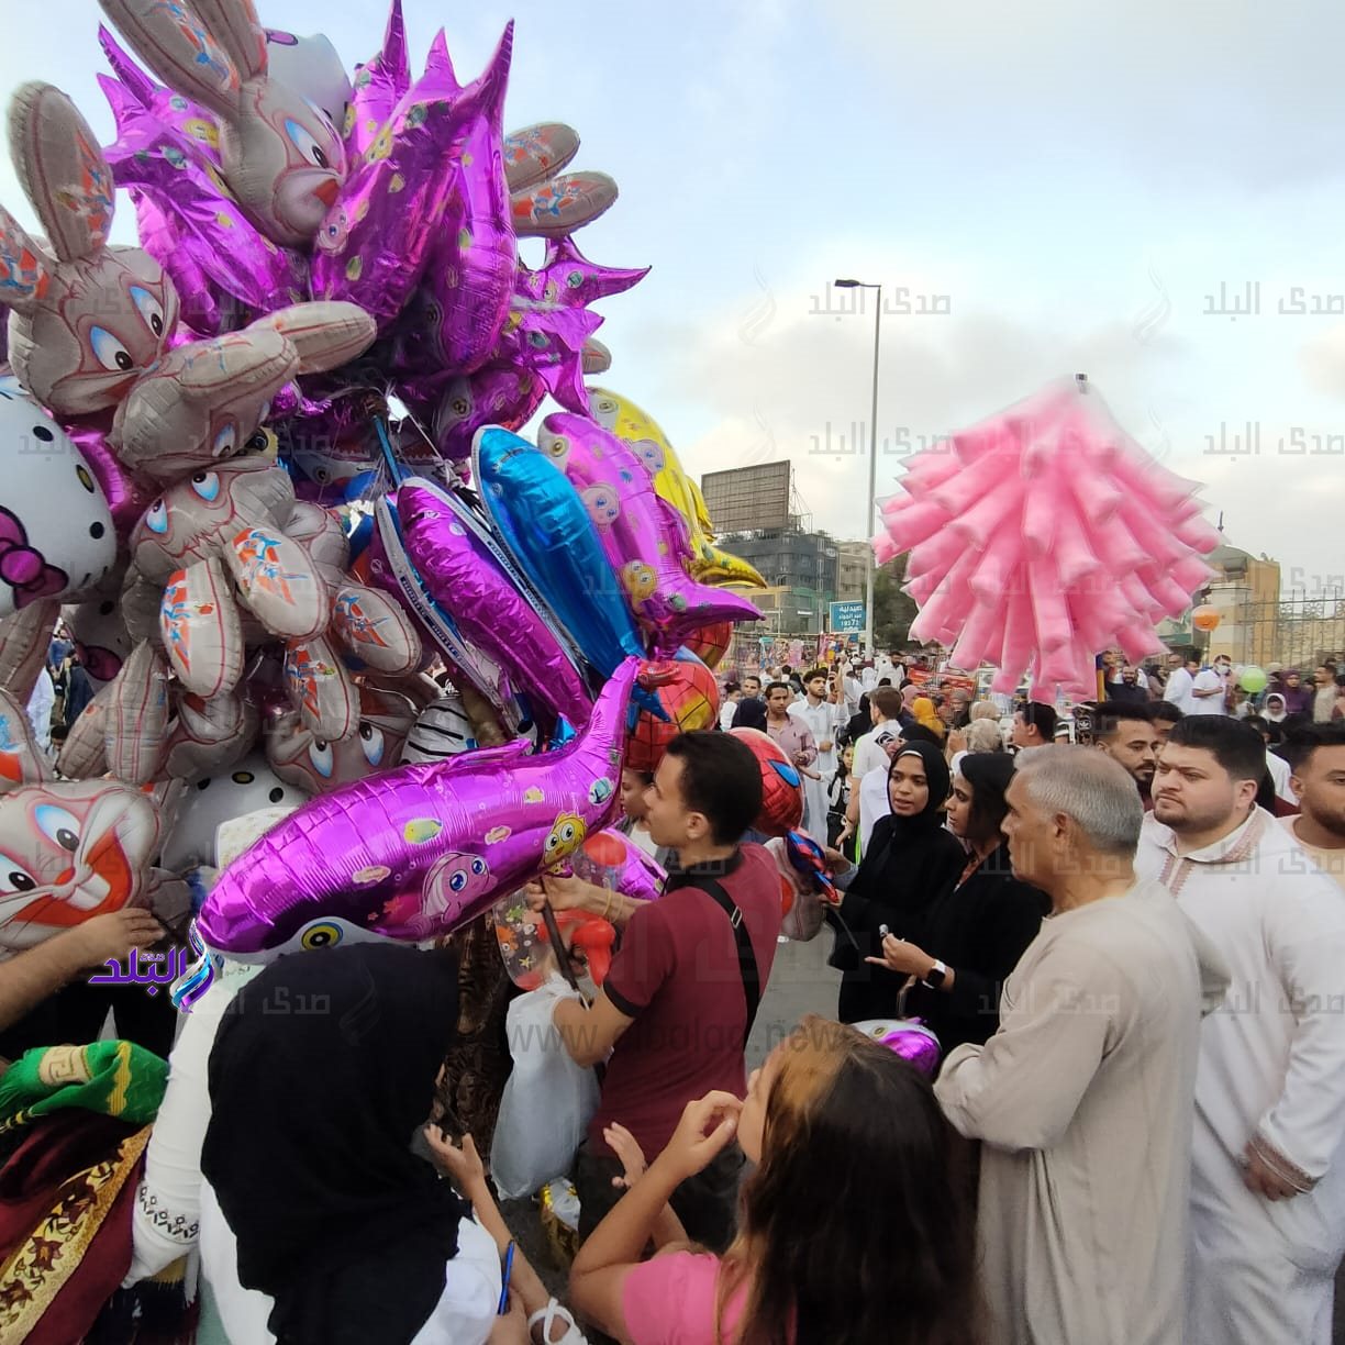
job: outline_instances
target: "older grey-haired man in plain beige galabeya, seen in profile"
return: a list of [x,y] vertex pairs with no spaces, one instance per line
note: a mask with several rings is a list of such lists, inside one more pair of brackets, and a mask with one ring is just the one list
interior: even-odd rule
[[951,1052],[935,1095],[982,1141],[993,1345],[1181,1345],[1200,1015],[1227,975],[1132,862],[1143,807],[1118,761],[1042,746],[1014,772],[1014,877],[1052,913]]

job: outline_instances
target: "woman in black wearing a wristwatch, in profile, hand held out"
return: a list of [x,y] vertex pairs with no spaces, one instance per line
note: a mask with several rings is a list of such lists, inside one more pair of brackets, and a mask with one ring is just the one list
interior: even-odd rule
[[999,824],[1013,757],[971,752],[958,765],[948,826],[968,850],[962,876],[929,908],[920,943],[888,935],[868,962],[907,978],[902,1013],[920,1018],[944,1056],[963,1042],[985,1044],[999,1026],[999,991],[1037,937],[1050,898],[1020,882]]

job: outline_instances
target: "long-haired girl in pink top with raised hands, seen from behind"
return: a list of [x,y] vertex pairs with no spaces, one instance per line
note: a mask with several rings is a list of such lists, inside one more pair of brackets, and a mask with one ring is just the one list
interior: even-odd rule
[[[756,1163],[721,1260],[679,1241],[672,1190],[734,1135]],[[804,1018],[745,1102],[689,1103],[580,1248],[574,1309],[628,1345],[976,1345],[974,1223],[958,1143],[915,1068],[853,1028]],[[659,1251],[640,1262],[650,1240]]]

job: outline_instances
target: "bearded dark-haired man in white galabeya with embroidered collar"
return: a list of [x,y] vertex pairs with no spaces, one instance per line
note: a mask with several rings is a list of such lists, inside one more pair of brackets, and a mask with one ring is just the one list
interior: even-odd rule
[[1201,1032],[1192,1147],[1192,1345],[1329,1345],[1345,1251],[1345,893],[1256,807],[1260,734],[1182,720],[1137,869],[1232,981]]

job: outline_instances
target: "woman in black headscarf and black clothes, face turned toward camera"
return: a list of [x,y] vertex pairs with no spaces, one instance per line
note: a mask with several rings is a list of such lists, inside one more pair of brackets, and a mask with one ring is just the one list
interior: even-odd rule
[[837,885],[845,889],[839,908],[827,912],[837,931],[831,966],[838,967],[842,1022],[892,1018],[905,981],[885,967],[865,963],[882,955],[882,932],[919,942],[931,902],[956,881],[966,851],[943,826],[948,799],[948,763],[929,742],[907,742],[888,767],[892,812],[880,818],[855,869],[829,850]]

